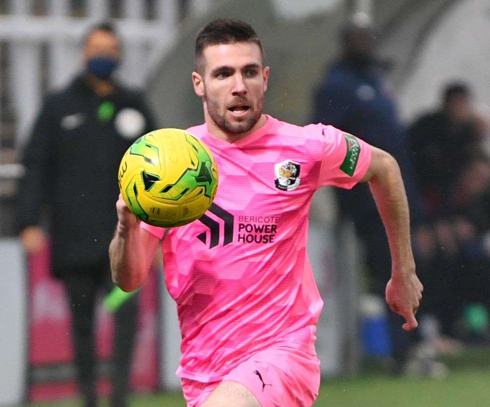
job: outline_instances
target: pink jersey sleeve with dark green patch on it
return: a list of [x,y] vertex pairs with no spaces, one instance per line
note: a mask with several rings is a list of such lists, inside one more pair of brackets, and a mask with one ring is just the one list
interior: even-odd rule
[[371,162],[371,147],[360,138],[333,126],[321,126],[324,148],[319,187],[333,185],[350,189],[366,173]]

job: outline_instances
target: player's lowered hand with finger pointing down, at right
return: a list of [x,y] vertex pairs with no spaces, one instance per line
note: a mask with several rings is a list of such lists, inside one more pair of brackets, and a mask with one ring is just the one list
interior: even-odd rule
[[424,287],[415,271],[393,273],[386,284],[386,302],[393,312],[400,314],[406,320],[402,328],[411,331],[417,328],[415,318]]

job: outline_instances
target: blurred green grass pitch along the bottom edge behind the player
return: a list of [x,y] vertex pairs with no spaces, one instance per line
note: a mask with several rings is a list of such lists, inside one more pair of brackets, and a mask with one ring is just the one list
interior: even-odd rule
[[[78,407],[75,401],[29,407]],[[107,406],[103,404],[102,406]],[[324,379],[315,407],[489,407],[490,367],[452,370],[446,379],[362,375]],[[131,407],[185,407],[180,394],[135,395]],[[286,407],[286,406],[285,406]]]

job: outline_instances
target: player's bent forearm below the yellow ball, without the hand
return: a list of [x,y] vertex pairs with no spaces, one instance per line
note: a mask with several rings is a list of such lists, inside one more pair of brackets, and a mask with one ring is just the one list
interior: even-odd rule
[[142,229],[122,228],[118,223],[109,245],[113,281],[124,291],[132,291],[146,281],[150,265],[146,262],[146,248]]

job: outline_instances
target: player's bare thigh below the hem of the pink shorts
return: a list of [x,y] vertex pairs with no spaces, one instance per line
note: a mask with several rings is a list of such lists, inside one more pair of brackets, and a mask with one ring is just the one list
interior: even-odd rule
[[221,382],[199,407],[262,407],[244,385],[232,381]]

